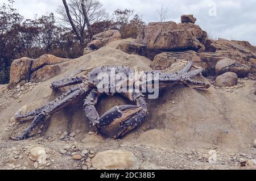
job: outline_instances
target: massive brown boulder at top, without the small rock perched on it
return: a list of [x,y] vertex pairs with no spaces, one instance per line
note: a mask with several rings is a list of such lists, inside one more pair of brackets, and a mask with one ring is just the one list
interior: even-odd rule
[[199,50],[204,48],[207,32],[192,23],[149,23],[142,28],[135,43],[155,52]]

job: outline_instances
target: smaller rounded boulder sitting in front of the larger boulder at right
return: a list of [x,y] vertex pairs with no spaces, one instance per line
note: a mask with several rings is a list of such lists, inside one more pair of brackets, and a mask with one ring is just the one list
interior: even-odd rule
[[227,72],[222,75],[219,75],[215,82],[214,86],[217,87],[232,87],[236,86],[238,81],[238,76],[236,73],[233,72]]

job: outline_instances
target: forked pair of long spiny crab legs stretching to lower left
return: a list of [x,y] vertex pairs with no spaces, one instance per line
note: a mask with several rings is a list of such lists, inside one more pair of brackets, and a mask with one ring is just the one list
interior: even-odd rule
[[[47,106],[44,106],[40,109],[40,112],[38,115],[34,117],[34,120],[31,124],[31,126],[27,129],[27,131],[20,137],[11,137],[12,140],[24,140],[26,139],[29,134],[32,132],[32,129],[34,129],[40,122],[44,121],[46,117],[50,117],[57,111],[63,109],[64,107],[67,107],[69,104],[71,104],[74,100],[79,98],[80,96],[84,95],[87,91],[89,91],[89,87],[86,87],[84,89],[81,89],[79,86],[73,88],[72,90],[68,91],[66,94],[63,94],[60,96],[59,99],[47,104]],[[26,115],[16,115],[16,118],[22,118],[26,116],[34,115],[36,111],[32,111],[31,113],[27,113]]]

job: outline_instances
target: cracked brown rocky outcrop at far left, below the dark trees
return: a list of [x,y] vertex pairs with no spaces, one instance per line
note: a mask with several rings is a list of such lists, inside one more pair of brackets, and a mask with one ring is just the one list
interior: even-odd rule
[[17,85],[23,86],[27,82],[42,82],[55,77],[67,70],[65,68],[69,61],[49,54],[35,60],[27,57],[14,60],[11,64],[9,89],[14,89]]

